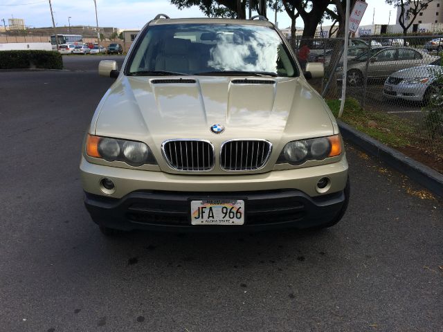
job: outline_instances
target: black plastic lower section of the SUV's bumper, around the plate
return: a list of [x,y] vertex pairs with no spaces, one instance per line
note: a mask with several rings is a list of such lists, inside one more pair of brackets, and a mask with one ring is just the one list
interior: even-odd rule
[[[348,188],[348,187],[347,187]],[[281,228],[313,228],[338,221],[349,190],[311,198],[298,190],[261,192],[132,192],[123,199],[86,193],[84,203],[98,225],[119,230],[235,232]],[[244,225],[192,225],[193,199],[243,199]]]

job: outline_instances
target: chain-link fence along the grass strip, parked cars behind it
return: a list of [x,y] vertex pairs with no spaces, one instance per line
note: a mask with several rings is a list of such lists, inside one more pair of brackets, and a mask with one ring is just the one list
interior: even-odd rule
[[343,44],[297,41],[297,54],[307,45],[308,61],[325,66],[325,79],[314,87],[326,100],[341,98],[346,61],[347,98],[364,111],[360,121],[352,119],[356,127],[443,172],[443,35],[352,38],[347,58]]

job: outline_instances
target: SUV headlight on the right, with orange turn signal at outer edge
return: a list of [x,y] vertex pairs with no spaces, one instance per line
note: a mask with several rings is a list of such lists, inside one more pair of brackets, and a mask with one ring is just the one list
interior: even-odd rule
[[313,138],[311,140],[294,140],[284,146],[278,163],[301,165],[307,160],[323,160],[341,154],[341,138],[338,135]]

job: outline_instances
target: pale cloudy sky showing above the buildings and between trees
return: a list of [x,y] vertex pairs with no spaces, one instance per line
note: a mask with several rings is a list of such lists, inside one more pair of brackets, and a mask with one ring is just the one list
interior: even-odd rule
[[[55,23],[57,26],[67,26],[68,17],[71,25],[96,25],[93,0],[51,0]],[[368,9],[361,25],[372,24],[375,8],[374,23],[388,24],[389,12],[392,10],[390,23],[395,21],[396,10],[388,6],[384,0],[367,0]],[[172,17],[204,17],[199,8],[178,10],[168,0],[97,0],[99,26],[114,26],[116,28],[142,28],[147,21],[159,13]],[[0,19],[24,19],[26,26],[52,26],[51,12],[48,0],[1,0]],[[269,19],[274,18],[273,12],[268,12]],[[278,13],[278,26],[287,28],[291,21],[285,12]],[[298,19],[297,26],[302,26]]]

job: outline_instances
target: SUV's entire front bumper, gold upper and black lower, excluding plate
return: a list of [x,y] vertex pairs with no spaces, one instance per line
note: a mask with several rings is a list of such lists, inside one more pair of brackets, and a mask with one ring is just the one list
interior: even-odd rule
[[[347,160],[337,163],[243,175],[182,175],[80,163],[85,205],[93,221],[121,230],[192,232],[311,228],[343,214],[347,205]],[[330,187],[320,194],[316,183],[327,176]],[[116,192],[100,191],[111,178]],[[190,201],[243,199],[244,225],[192,225]]]

